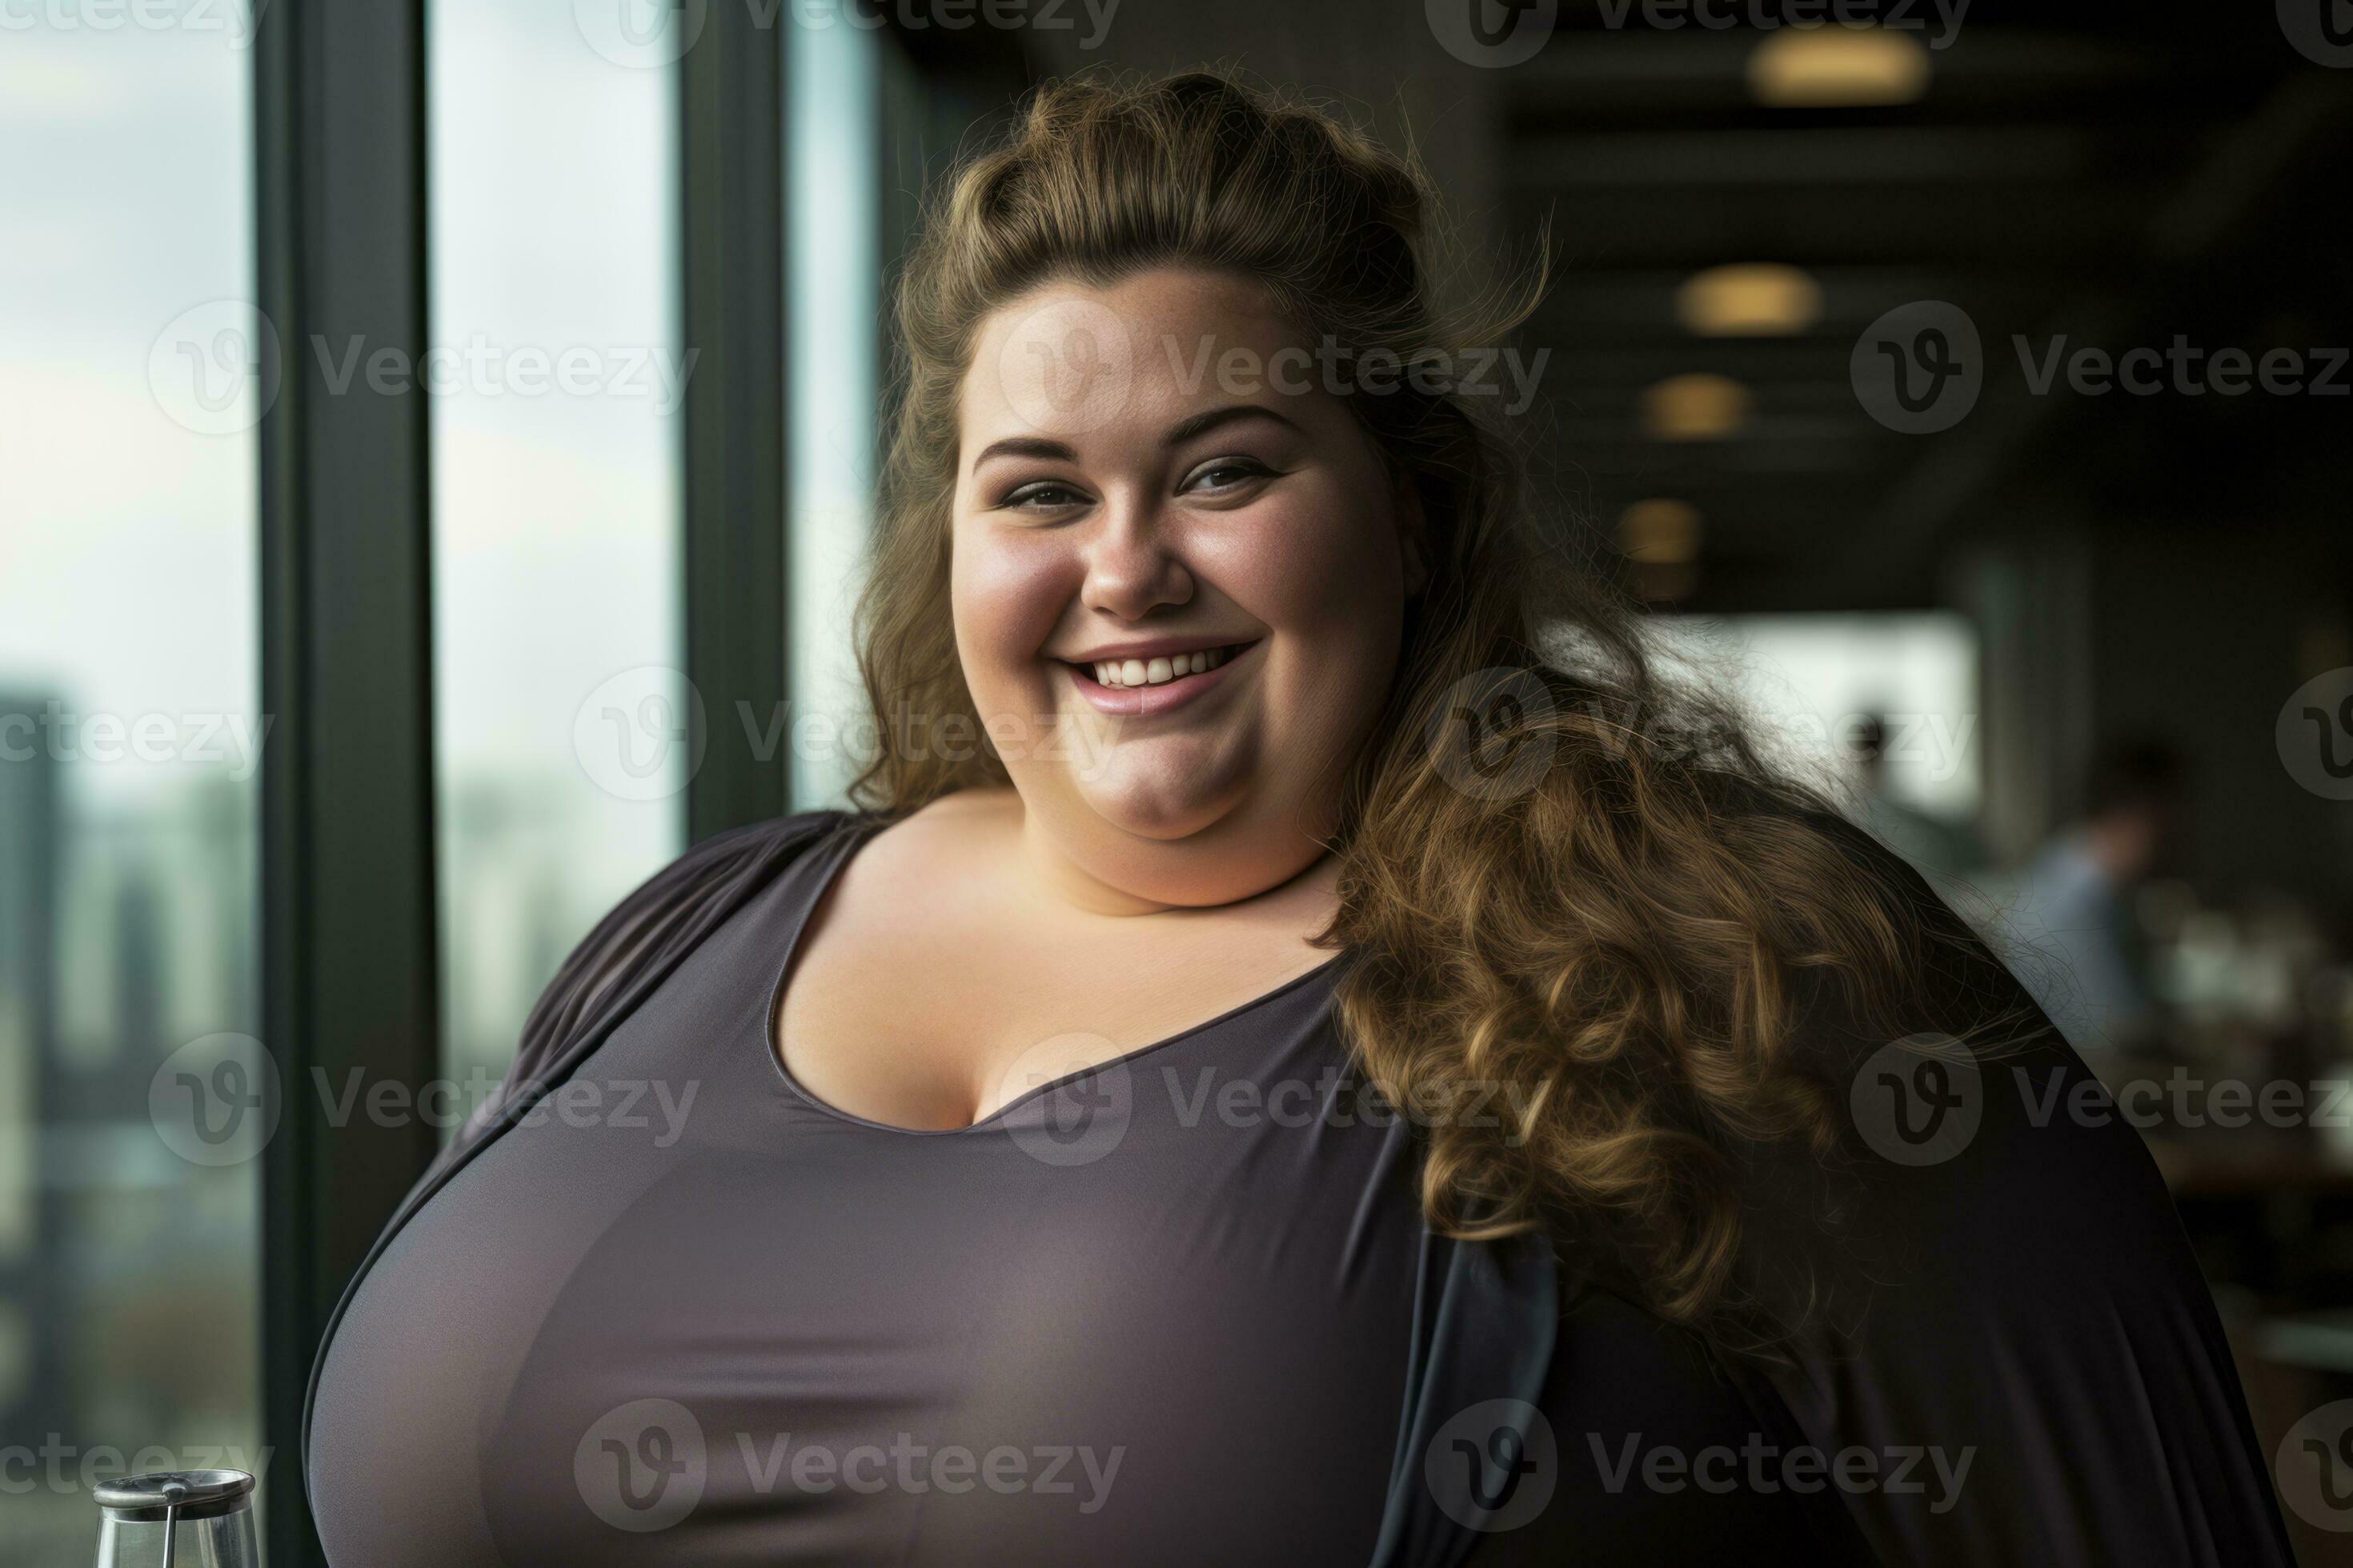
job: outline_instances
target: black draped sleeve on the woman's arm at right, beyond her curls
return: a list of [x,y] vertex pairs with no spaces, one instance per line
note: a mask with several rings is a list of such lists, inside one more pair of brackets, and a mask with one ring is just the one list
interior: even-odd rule
[[[2214,1298],[2139,1133],[1918,872],[1854,853],[1951,938],[1922,1032],[2014,1027],[1953,1053],[1817,999],[1802,1051],[1842,1091],[1854,1154],[1760,1204],[1753,1276],[1826,1305],[1784,1359],[1727,1371],[1833,1474],[1864,1450],[1835,1490],[1880,1561],[2285,1568]],[[1788,1201],[1800,1185],[1819,1204]],[[1788,1267],[1800,1253],[1817,1267]]]

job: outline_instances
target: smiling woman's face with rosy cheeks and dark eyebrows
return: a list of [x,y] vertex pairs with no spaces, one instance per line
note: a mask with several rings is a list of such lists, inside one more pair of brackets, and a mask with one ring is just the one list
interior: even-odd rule
[[1209,905],[1322,851],[1419,574],[1395,482],[1264,289],[1151,270],[988,315],[958,428],[955,646],[1031,832]]

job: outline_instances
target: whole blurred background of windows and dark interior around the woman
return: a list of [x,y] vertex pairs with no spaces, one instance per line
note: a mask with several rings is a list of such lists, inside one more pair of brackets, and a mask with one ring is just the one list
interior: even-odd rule
[[1548,233],[1551,524],[2141,1086],[2266,1453],[2353,1394],[2346,7],[348,9],[0,31],[0,1559],[212,1462],[311,1561],[311,1347],[541,985],[840,797],[892,270],[1068,71],[1409,132],[1464,289]]

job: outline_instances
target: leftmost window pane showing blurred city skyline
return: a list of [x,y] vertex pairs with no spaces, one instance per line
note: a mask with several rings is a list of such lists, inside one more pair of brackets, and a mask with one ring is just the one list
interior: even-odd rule
[[254,425],[278,348],[249,303],[245,9],[21,7],[0,33],[9,1561],[87,1561],[92,1486],[127,1469],[266,1479],[261,1128],[198,1103],[261,1030]]

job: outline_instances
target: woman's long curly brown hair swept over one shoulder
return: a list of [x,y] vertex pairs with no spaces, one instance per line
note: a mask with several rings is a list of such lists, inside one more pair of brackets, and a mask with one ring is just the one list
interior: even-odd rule
[[[1214,73],[1047,85],[962,162],[899,287],[896,423],[856,618],[885,743],[852,788],[861,806],[1007,783],[986,741],[892,741],[908,712],[984,733],[946,614],[958,386],[981,320],[1045,280],[1226,268],[1308,341],[1438,364],[1435,348],[1499,343],[1544,268],[1442,320],[1433,216],[1412,158]],[[1421,496],[1428,583],[1344,785],[1339,914],[1320,936],[1353,954],[1344,1034],[1421,1112],[1435,1227],[1541,1227],[1659,1316],[1765,1347],[1791,1321],[1739,1269],[1746,1152],[1835,1157],[1847,1126],[1845,1084],[1793,1048],[1802,997],[1828,983],[1842,1018],[1894,1039],[1922,1023],[1929,947],[1972,938],[1659,658],[1595,552],[1539,534],[1478,397],[1424,376],[1351,404]],[[1471,1103],[1487,1114],[1447,1114]]]

